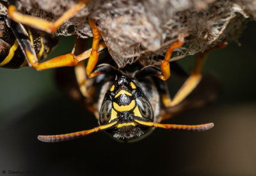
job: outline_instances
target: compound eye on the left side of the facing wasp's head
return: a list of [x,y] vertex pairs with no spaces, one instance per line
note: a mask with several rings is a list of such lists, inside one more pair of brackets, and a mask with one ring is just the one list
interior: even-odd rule
[[99,117],[99,121],[100,121],[100,125],[104,125],[107,124],[111,118],[111,101],[110,100],[106,100],[105,102],[103,102],[101,108],[100,108],[100,117]]

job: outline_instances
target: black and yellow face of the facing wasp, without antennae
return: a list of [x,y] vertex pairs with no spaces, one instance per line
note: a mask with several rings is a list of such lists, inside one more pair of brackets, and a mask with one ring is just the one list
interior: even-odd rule
[[100,125],[117,121],[114,129],[109,129],[114,138],[131,140],[145,134],[148,127],[142,127],[134,119],[154,121],[153,109],[145,93],[132,79],[125,75],[116,76],[104,96],[99,113]]

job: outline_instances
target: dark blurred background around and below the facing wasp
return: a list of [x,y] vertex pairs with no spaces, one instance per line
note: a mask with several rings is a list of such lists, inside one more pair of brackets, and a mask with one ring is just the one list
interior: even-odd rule
[[[136,143],[118,143],[104,132],[61,143],[38,134],[92,129],[97,120],[56,87],[54,69],[0,69],[0,175],[256,175],[256,24],[239,42],[214,50],[203,72],[221,83],[216,102],[165,123],[215,126],[206,132],[156,129]],[[50,57],[72,51],[61,38]],[[180,60],[186,70],[195,57]],[[6,173],[4,173],[4,170]]]

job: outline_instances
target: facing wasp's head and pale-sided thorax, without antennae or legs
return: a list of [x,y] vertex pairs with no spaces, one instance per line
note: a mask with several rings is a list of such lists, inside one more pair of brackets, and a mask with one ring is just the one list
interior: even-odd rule
[[138,80],[116,74],[114,81],[104,84],[100,95],[104,98],[99,99],[99,124],[117,122],[114,128],[107,130],[113,138],[136,140],[152,131],[152,128],[138,125],[136,120],[158,121],[160,97],[150,78]]

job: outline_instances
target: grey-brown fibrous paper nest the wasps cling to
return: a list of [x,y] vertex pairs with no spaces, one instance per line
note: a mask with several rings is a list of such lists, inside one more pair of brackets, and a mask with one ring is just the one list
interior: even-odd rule
[[[75,0],[20,0],[20,10],[47,20],[60,17]],[[250,18],[249,18],[250,17]],[[159,64],[168,45],[179,37],[178,60],[226,41],[237,41],[248,19],[256,19],[256,0],[97,0],[90,1],[65,22],[56,35],[92,36],[88,19],[95,19],[118,67],[138,58]],[[70,32],[70,29],[74,31]]]

